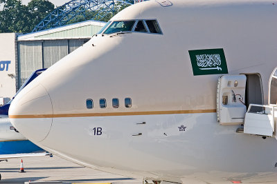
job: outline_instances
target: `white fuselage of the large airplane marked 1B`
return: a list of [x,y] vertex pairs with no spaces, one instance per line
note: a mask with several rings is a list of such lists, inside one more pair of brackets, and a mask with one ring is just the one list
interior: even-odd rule
[[[107,172],[178,183],[260,176],[277,181],[276,139],[220,125],[216,94],[222,74],[194,75],[188,52],[223,48],[228,74],[258,73],[267,103],[277,65],[277,6],[171,2],[145,1],[118,13],[111,21],[157,19],[162,34],[94,36],[15,97],[12,124],[44,150]],[[125,98],[132,99],[131,108]]]

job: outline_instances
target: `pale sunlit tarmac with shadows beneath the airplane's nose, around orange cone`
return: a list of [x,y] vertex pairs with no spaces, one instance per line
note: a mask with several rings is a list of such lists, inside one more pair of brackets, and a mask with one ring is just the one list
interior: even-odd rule
[[100,172],[71,163],[58,156],[35,156],[23,159],[24,173],[19,173],[21,159],[0,162],[1,183],[131,183],[139,179]]

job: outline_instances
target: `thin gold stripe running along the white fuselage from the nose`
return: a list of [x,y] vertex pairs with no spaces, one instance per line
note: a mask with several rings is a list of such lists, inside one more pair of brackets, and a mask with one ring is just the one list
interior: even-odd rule
[[107,112],[107,113],[80,113],[80,114],[30,114],[9,115],[10,119],[35,119],[35,118],[66,118],[66,117],[89,117],[89,116],[134,116],[134,115],[157,115],[157,114],[195,114],[211,113],[216,110],[172,110],[172,111],[148,111],[148,112]]

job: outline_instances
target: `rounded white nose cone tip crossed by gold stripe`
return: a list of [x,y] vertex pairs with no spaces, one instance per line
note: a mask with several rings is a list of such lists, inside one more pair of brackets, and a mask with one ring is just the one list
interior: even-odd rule
[[12,101],[9,117],[12,125],[33,142],[43,141],[52,125],[51,98],[41,84],[30,83]]

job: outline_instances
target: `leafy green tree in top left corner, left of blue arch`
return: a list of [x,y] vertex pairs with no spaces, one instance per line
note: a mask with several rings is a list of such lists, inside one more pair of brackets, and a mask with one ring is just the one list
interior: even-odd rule
[[32,0],[28,6],[21,0],[0,0],[3,10],[0,12],[0,32],[30,32],[46,14],[54,10],[48,0]]

